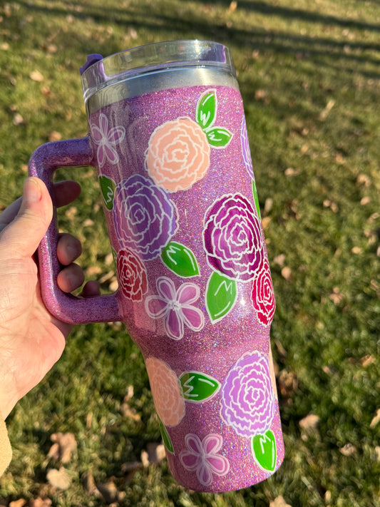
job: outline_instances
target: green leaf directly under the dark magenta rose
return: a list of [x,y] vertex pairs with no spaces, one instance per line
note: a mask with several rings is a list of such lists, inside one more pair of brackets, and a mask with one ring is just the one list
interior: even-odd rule
[[225,317],[235,306],[237,285],[219,272],[214,271],[207,282],[206,308],[212,324]]

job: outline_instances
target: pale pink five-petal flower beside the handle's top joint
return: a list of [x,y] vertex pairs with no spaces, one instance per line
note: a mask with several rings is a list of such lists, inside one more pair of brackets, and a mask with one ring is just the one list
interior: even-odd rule
[[98,145],[96,156],[99,167],[102,168],[106,160],[111,164],[118,163],[119,155],[115,146],[125,138],[125,128],[123,126],[110,127],[107,116],[101,113],[98,124],[91,122],[90,130],[93,142]]

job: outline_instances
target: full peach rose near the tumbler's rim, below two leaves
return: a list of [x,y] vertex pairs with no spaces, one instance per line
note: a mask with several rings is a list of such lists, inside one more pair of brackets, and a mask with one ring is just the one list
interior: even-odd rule
[[150,136],[145,167],[154,182],[170,192],[192,187],[209,165],[207,136],[191,118],[163,123]]

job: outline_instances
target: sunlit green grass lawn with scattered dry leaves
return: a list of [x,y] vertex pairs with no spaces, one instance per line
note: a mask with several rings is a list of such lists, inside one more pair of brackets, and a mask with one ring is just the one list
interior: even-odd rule
[[[148,376],[123,327],[91,324],[74,330],[56,367],[9,416],[14,459],[0,506],[24,498],[38,507],[39,497],[68,507],[265,507],[280,495],[292,507],[380,506],[379,1],[1,3],[0,209],[21,193],[38,145],[86,135],[78,73],[86,54],[195,38],[230,46],[245,102],[277,297],[284,464],[268,481],[224,494],[178,486],[165,459],[128,471],[160,444]],[[88,279],[109,292],[115,274],[96,175],[58,174],[83,188],[59,225],[83,241]],[[48,457],[58,432],[76,439],[66,464]],[[61,466],[66,488],[48,480]]]

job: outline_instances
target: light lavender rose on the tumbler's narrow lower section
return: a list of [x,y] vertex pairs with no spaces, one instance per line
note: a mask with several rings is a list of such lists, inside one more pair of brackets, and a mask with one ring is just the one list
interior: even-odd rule
[[230,369],[221,388],[221,415],[240,436],[264,434],[274,416],[269,360],[248,352]]

